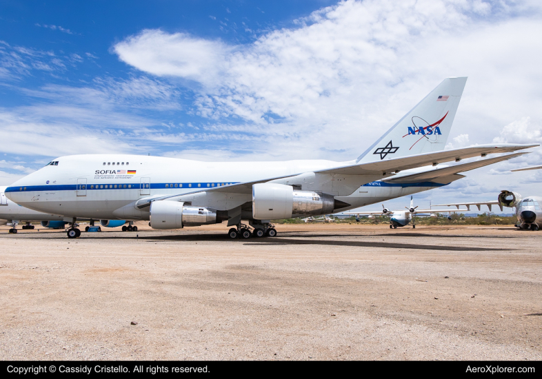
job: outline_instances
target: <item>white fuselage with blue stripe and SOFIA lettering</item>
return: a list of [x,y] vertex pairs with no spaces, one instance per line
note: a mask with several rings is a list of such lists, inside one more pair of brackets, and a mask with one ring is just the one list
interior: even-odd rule
[[[148,220],[148,208],[134,207],[141,198],[187,194],[350,164],[314,160],[225,163],[106,154],[63,156],[56,162],[14,183],[6,196],[23,207],[66,217]],[[441,186],[374,181],[348,196],[335,198],[350,204],[341,209],[347,210]],[[190,201],[196,206],[228,210],[250,203],[252,195],[207,192],[193,196]]]

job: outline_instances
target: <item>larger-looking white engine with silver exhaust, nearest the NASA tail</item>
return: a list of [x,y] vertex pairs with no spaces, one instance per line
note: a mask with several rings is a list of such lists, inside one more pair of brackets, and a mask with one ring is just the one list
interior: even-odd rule
[[252,185],[252,217],[255,220],[318,216],[330,214],[333,209],[335,199],[332,195],[297,191],[294,187],[283,184]]

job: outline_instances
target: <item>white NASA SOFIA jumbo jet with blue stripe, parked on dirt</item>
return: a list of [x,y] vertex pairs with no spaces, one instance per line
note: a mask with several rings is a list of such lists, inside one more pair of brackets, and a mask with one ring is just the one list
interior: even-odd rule
[[442,81],[352,161],[63,156],[8,187],[6,196],[24,207],[63,214],[72,223],[79,217],[150,220],[154,229],[176,229],[228,221],[232,238],[250,237],[250,227],[254,236],[275,236],[271,220],[332,214],[440,187],[462,178],[459,172],[525,153],[436,168],[439,163],[538,146],[443,151],[466,80]]

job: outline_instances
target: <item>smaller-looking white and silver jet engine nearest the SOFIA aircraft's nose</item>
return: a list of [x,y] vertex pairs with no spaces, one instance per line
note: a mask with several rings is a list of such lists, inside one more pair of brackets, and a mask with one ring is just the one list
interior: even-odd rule
[[226,211],[192,207],[178,201],[153,201],[150,205],[152,229],[181,229],[185,226],[218,224],[228,218]]

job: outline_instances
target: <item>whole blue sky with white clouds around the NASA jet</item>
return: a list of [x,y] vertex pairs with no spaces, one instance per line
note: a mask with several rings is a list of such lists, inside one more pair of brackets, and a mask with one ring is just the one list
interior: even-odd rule
[[[67,154],[349,160],[447,76],[469,76],[448,148],[542,141],[537,1],[0,4],[2,185]],[[541,161],[419,203],[536,193],[509,170]]]

